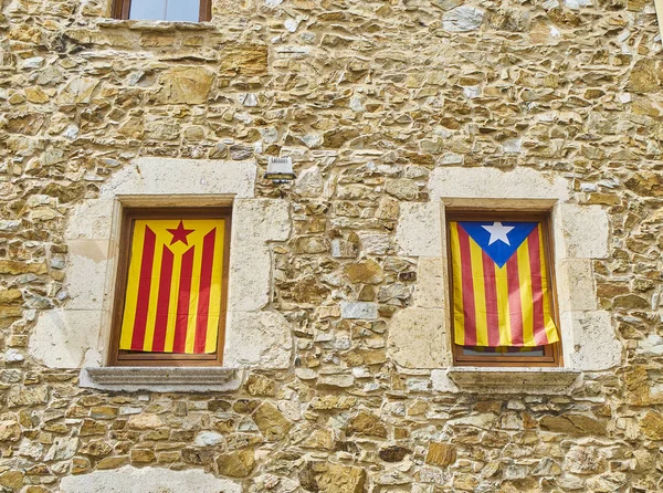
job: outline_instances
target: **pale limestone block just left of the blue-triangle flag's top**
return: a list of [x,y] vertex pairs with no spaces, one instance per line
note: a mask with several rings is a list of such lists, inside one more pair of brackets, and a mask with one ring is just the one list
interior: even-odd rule
[[396,244],[401,255],[441,256],[442,221],[439,202],[401,203]]

